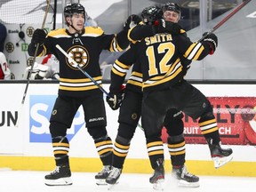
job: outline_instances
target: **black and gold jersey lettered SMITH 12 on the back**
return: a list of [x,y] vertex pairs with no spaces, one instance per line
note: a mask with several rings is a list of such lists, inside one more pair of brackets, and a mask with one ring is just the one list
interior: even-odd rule
[[143,92],[166,89],[183,79],[180,54],[188,60],[202,60],[209,52],[208,44],[192,43],[183,35],[156,34],[146,37],[116,60],[111,72],[112,89],[119,86],[118,78],[125,76],[132,63],[134,67],[140,65]]

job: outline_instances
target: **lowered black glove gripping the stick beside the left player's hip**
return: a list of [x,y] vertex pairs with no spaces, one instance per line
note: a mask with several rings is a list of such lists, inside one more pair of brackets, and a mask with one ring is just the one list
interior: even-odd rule
[[111,98],[107,96],[106,100],[108,102],[109,107],[112,108],[113,110],[120,108],[124,100],[124,89],[125,89],[125,86],[122,85],[119,92],[116,92],[116,93],[109,92],[109,95],[111,96]]

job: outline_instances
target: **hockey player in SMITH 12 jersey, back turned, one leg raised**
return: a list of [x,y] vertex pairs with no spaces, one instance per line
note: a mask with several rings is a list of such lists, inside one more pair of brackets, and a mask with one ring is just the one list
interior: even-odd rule
[[[158,25],[161,22],[163,23],[164,20],[159,20]],[[116,62],[123,68],[136,63],[135,66],[139,64],[142,69],[144,91],[142,126],[146,132],[148,146],[152,148],[154,145],[149,143],[156,141],[158,143],[156,142],[155,148],[161,146],[161,141],[156,138],[161,135],[160,127],[166,115],[165,111],[176,108],[194,119],[199,119],[199,126],[209,144],[212,159],[214,163],[217,163],[215,164],[216,168],[231,160],[232,149],[220,148],[220,135],[211,104],[201,92],[183,79],[184,70],[182,69],[185,66],[180,64],[179,55],[184,55],[188,60],[202,60],[209,53],[215,51],[217,44],[218,39],[214,34],[207,36],[203,42],[199,43],[192,43],[185,36],[156,34],[156,36],[146,37],[140,43],[132,46]],[[120,78],[120,74],[118,75],[120,69],[118,71],[116,68],[112,71],[119,76],[116,77],[117,79]],[[112,80],[112,82],[116,84],[118,80]],[[117,83],[114,86],[117,88],[119,85]],[[163,162],[163,155],[160,151],[157,155],[156,151],[154,153],[152,156],[148,153],[148,156],[157,178],[159,176],[158,164]],[[218,157],[220,157],[219,161],[215,161],[215,158]],[[223,159],[225,160],[223,161]],[[162,168],[159,170],[160,175],[161,172],[164,174]]]

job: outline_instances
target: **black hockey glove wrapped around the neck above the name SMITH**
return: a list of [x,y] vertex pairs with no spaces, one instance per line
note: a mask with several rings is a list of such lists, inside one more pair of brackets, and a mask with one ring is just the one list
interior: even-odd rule
[[179,35],[182,29],[178,23],[165,21],[164,19],[156,20],[154,23],[156,33],[170,33],[172,35]]

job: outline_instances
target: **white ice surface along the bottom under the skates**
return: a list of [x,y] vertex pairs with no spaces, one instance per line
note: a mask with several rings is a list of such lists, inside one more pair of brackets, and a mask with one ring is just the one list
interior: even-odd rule
[[[61,187],[49,187],[44,185],[44,174],[48,172],[28,172],[0,170],[1,192],[97,192],[97,191],[156,191],[149,184],[150,174],[123,173],[119,184],[111,190],[107,186],[97,186],[92,172],[72,172],[73,185]],[[220,177],[199,176],[199,188],[181,188],[166,172],[164,191],[172,192],[241,192],[254,191],[256,188],[255,177]],[[254,189],[253,189],[254,188]]]

